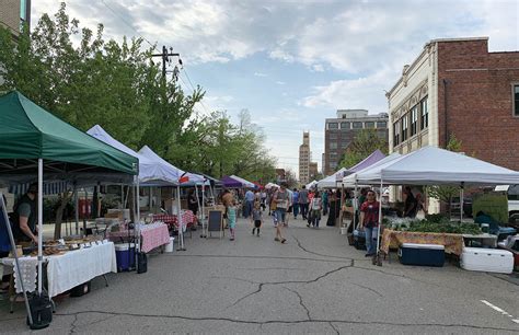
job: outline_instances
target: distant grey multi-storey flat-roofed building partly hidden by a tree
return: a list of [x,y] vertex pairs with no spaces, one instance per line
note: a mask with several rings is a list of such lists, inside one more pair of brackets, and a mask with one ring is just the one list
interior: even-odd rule
[[326,118],[323,174],[336,172],[346,148],[362,129],[376,129],[380,137],[388,139],[388,114],[368,115],[366,109],[338,109],[336,118]]

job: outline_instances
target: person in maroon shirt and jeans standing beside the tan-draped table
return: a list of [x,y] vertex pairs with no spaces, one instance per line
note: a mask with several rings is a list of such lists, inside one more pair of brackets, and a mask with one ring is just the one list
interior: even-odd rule
[[379,230],[379,207],[373,190],[368,190],[367,200],[360,206],[360,228],[366,231],[366,257],[377,253],[377,235]]

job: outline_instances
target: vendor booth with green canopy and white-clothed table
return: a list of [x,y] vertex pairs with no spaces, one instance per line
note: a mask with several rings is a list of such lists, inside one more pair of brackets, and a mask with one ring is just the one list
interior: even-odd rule
[[[3,185],[37,181],[38,189],[43,189],[43,180],[69,181],[74,185],[82,183],[116,182],[129,183],[138,173],[138,160],[119,150],[85,135],[46,112],[19,92],[11,92],[0,97],[0,183]],[[43,232],[43,193],[37,193],[38,231]],[[4,221],[9,222],[3,198],[0,210]],[[10,226],[8,224],[8,228]],[[10,231],[10,229],[9,229]],[[15,243],[11,236],[11,244]],[[21,276],[22,264],[30,264],[27,273],[31,278],[37,274],[36,296],[25,296],[28,323],[32,327],[44,327],[49,320],[33,320],[30,304],[48,301],[44,294],[43,274],[46,264],[48,294],[71,288],[78,282],[86,282],[93,277],[114,270],[114,244],[103,241],[74,241],[71,244],[50,246],[37,235],[36,256],[24,256],[19,262],[16,250],[13,249],[12,259],[2,259],[2,264],[11,264]],[[94,242],[94,246],[92,246]],[[95,255],[93,251],[95,250]],[[46,255],[44,257],[44,255]],[[96,266],[86,269],[96,259]],[[37,266],[37,272],[35,267]],[[80,267],[80,270],[78,270]],[[72,275],[70,275],[72,274]],[[69,276],[70,280],[60,280]],[[73,278],[72,278],[73,277]],[[57,280],[55,280],[57,279]],[[59,284],[58,284],[59,281]],[[34,282],[34,281],[32,281]],[[27,281],[27,288],[33,288]]]

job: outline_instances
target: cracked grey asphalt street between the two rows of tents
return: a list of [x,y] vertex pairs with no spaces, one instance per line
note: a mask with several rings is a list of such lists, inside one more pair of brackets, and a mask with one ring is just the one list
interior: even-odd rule
[[[152,254],[148,273],[111,274],[92,292],[57,301],[47,330],[66,333],[320,333],[518,334],[516,276],[441,268],[371,265],[337,228],[291,219],[287,243],[238,221],[237,240],[200,231],[187,251]],[[0,301],[0,332],[28,332],[22,303],[9,314]]]

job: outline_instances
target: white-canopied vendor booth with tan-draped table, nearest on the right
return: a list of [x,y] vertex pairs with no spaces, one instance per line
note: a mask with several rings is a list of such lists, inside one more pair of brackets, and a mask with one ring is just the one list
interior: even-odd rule
[[[383,185],[453,185],[460,187],[460,199],[463,199],[463,189],[468,185],[491,186],[519,183],[519,172],[435,147],[425,147],[401,157],[391,158],[390,155],[384,160],[346,176],[343,183],[346,185],[377,185],[381,188]],[[461,206],[460,222],[463,221],[462,208]],[[379,222],[381,221],[382,208],[380,207]],[[402,246],[403,243],[416,244],[420,241],[436,241],[435,243],[443,244],[446,252],[450,251],[453,254],[460,253],[460,244],[461,249],[465,250],[462,244],[462,235],[451,238],[447,234],[432,235],[427,232],[410,234],[385,229],[383,236],[378,234],[378,240],[380,238],[383,241],[382,250],[384,252],[388,252],[389,245],[392,243]]]

